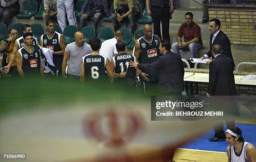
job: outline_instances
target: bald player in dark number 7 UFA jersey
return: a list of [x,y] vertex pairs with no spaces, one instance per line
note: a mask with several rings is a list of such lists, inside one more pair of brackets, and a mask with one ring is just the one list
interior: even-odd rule
[[[159,45],[160,38],[152,34],[152,27],[149,24],[143,26],[145,35],[135,43],[134,56],[139,63],[153,63],[161,56]],[[155,93],[157,91],[157,69],[141,71],[140,81],[143,84],[144,92]]]

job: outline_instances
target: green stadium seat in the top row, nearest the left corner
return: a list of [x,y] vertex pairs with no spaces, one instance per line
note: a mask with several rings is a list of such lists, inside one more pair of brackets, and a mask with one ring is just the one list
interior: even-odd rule
[[25,0],[22,5],[21,12],[16,16],[17,18],[30,19],[37,12],[37,4],[35,0]]

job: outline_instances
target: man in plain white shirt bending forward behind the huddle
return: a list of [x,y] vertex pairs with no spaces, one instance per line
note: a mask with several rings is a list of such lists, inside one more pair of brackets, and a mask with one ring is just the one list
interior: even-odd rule
[[118,54],[118,52],[116,51],[115,44],[122,40],[123,40],[123,32],[121,32],[120,30],[117,30],[114,34],[114,38],[105,40],[101,44],[100,54],[107,56],[108,59],[111,60],[111,58],[114,55]]

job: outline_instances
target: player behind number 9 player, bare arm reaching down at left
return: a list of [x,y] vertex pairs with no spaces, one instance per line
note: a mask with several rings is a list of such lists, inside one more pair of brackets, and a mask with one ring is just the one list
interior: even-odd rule
[[[31,29],[31,26],[29,24],[24,24],[22,26],[22,30],[23,30],[23,33],[32,33],[32,29]],[[37,38],[36,37],[33,37],[33,43],[32,43],[32,46],[37,46]],[[17,51],[18,49],[22,48],[25,46],[25,42],[24,42],[24,39],[23,37],[20,37],[18,39],[15,40],[15,43],[14,43],[14,47],[13,47],[13,55],[12,57],[10,58],[10,62],[8,63],[7,66],[3,67],[3,69],[5,69],[5,73],[7,74],[10,70],[10,66],[13,64],[13,62],[15,61],[15,58],[16,58],[16,54],[17,54]]]

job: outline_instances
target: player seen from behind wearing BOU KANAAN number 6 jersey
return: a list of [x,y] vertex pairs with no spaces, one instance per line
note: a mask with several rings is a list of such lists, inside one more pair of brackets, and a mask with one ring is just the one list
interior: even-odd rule
[[100,49],[100,39],[90,38],[90,46],[92,48],[92,52],[88,55],[82,57],[82,67],[81,67],[81,81],[87,82],[97,82],[106,84],[109,82],[107,72],[110,77],[114,78],[124,78],[126,73],[113,73],[110,68],[110,61],[108,57],[99,53]]

